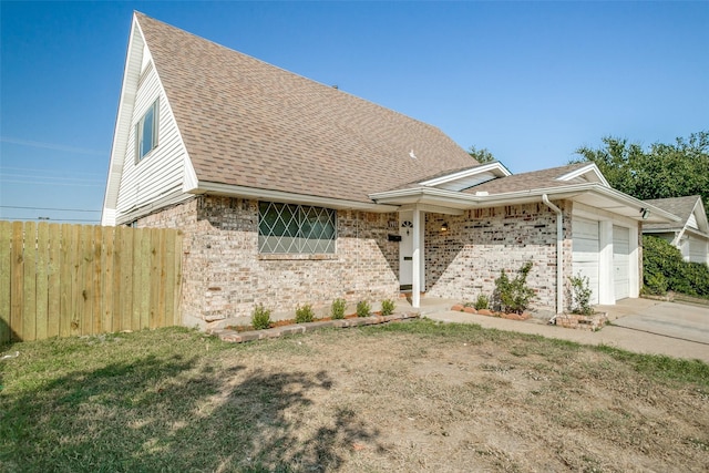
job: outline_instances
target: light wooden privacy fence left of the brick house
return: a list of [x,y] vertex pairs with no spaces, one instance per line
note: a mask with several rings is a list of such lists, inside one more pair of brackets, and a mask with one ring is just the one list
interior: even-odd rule
[[179,325],[182,236],[0,222],[0,343]]

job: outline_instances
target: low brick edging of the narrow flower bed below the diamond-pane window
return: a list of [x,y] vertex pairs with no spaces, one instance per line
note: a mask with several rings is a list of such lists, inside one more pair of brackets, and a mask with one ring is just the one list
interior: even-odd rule
[[322,320],[307,323],[294,323],[291,326],[276,327],[265,330],[251,330],[238,332],[236,330],[223,329],[215,330],[212,335],[219,337],[223,341],[242,343],[244,341],[264,340],[268,338],[278,338],[284,335],[305,333],[307,331],[319,330],[323,328],[347,328],[361,326],[376,326],[379,323],[388,323],[398,320],[408,320],[419,318],[419,313],[392,313],[391,316],[370,316],[357,317],[352,319]]

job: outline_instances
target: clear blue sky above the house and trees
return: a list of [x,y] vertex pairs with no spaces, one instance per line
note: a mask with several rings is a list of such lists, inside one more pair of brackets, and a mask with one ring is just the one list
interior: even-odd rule
[[133,10],[438,126],[513,173],[606,135],[709,128],[706,1],[1,1],[0,218],[99,220]]

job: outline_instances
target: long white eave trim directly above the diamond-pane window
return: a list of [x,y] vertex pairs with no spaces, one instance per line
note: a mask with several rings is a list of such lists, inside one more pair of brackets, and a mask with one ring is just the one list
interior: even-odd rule
[[279,202],[284,204],[316,205],[318,207],[335,208],[340,210],[357,209],[376,213],[389,213],[399,210],[398,205],[345,200],[314,195],[294,194],[282,191],[269,191],[256,187],[237,186],[232,184],[208,183],[204,181],[199,181],[197,187],[191,189],[189,192],[192,194],[217,194],[233,197],[253,198],[256,200]]

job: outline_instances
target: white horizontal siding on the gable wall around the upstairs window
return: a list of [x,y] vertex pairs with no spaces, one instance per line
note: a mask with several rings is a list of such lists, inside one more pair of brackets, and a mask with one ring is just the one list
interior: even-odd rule
[[[136,125],[155,101],[160,106],[157,111],[160,145],[150,153],[150,156],[136,160]],[[186,151],[154,68],[148,68],[142,78],[135,96],[130,130],[116,205],[119,224],[140,216],[142,213],[137,209],[150,208],[158,202],[165,204],[189,197],[188,194],[183,193]]]

